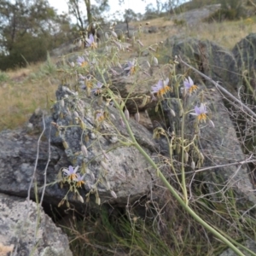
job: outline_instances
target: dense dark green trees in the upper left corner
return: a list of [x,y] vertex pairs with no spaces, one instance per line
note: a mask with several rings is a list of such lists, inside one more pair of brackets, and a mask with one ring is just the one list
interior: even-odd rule
[[[46,1],[0,1],[0,69],[43,61],[47,50],[68,40],[65,15],[56,15]],[[68,33],[67,33],[68,32]]]

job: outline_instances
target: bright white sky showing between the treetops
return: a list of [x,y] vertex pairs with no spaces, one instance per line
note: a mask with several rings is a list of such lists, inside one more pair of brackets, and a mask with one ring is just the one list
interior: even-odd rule
[[[82,1],[83,2],[83,1]],[[145,7],[148,3],[153,3],[155,6],[155,0],[125,0],[121,6],[119,5],[119,0],[108,0],[108,4],[110,6],[110,14],[115,14],[117,11],[124,11],[125,9],[133,9],[135,13],[144,13]],[[95,1],[91,1],[91,4],[95,3]],[[67,8],[67,0],[49,0],[49,4],[58,10],[58,13],[68,11]]]

